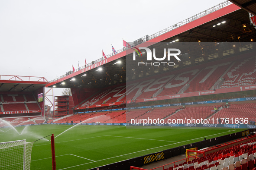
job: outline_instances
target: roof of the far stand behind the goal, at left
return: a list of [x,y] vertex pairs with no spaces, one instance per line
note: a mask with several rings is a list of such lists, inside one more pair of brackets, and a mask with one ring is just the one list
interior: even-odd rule
[[32,92],[47,83],[44,77],[0,75],[0,92]]

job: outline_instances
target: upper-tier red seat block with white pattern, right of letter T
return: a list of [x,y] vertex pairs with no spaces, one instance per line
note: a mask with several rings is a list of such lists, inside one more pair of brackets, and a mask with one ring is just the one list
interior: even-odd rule
[[252,85],[256,81],[256,57],[238,60],[224,76],[225,81],[220,88]]

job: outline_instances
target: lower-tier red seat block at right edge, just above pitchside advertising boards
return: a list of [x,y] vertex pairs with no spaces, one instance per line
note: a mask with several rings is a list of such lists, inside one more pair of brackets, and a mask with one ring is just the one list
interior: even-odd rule
[[[231,104],[228,108],[223,108],[218,111],[216,114],[211,116],[211,119],[214,119],[214,123],[217,123],[218,118],[233,118],[233,123],[235,123],[236,118],[248,118],[248,120],[256,121],[256,103],[249,104]],[[223,119],[221,119],[222,121]],[[211,122],[212,123],[212,122]],[[224,121],[223,121],[224,123]],[[236,123],[237,124],[237,123]]]

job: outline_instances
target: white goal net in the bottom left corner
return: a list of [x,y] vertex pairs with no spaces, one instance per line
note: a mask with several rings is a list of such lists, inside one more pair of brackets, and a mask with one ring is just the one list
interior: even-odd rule
[[0,170],[30,170],[33,143],[26,140],[0,143]]

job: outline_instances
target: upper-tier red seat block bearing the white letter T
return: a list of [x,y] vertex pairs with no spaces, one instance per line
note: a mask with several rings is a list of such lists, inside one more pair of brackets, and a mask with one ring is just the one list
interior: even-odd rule
[[192,91],[209,90],[214,83],[225,72],[231,62],[221,63],[214,66],[204,68],[190,83],[185,93]]

